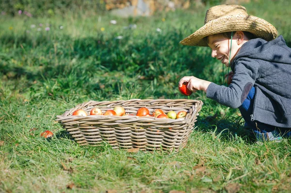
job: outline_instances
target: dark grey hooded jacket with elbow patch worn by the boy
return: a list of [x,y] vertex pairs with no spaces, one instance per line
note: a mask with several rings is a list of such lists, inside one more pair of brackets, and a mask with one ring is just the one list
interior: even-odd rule
[[238,108],[254,86],[252,120],[291,128],[291,48],[281,35],[270,42],[257,38],[244,43],[231,69],[229,87],[210,83],[208,98]]

